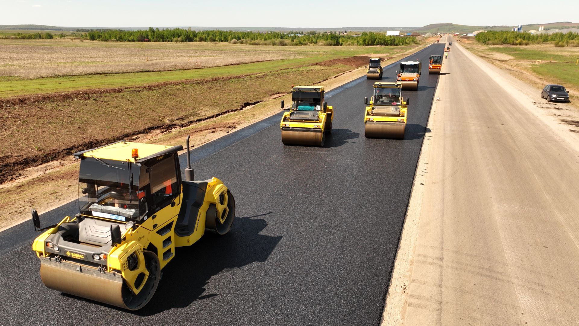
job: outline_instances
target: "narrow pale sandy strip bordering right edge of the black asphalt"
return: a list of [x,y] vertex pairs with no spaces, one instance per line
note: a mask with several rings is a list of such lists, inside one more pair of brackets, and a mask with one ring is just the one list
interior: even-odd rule
[[[402,325],[404,324],[406,307],[408,306],[408,298],[410,295],[409,287],[412,280],[412,270],[414,268],[414,254],[416,251],[416,241],[420,224],[420,216],[422,213],[422,201],[424,198],[424,187],[417,187],[418,184],[424,185],[426,175],[420,176],[419,171],[421,166],[428,164],[428,155],[430,155],[431,146],[430,140],[427,137],[432,136],[432,122],[434,122],[434,115],[436,114],[438,104],[438,86],[441,82],[438,77],[436,90],[433,95],[433,104],[430,107],[430,114],[424,128],[424,139],[422,140],[422,147],[418,155],[418,163],[416,164],[416,171],[414,174],[414,181],[408,207],[406,208],[406,216],[404,218],[404,225],[398,240],[398,249],[394,258],[394,267],[390,275],[390,284],[386,291],[384,298],[384,310],[380,320],[380,326]],[[430,131],[428,131],[430,130]]]

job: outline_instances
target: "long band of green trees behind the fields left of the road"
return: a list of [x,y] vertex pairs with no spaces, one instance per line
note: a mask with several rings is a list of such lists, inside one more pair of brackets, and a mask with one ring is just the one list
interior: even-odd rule
[[[50,39],[64,38],[67,35],[53,35],[45,33],[15,33],[8,38],[20,39]],[[351,32],[344,34],[324,32],[251,32],[251,31],[194,31],[184,28],[171,28],[159,30],[149,27],[148,30],[124,31],[124,30],[78,30],[72,37],[88,39],[90,41],[118,41],[118,42],[230,42],[250,45],[409,45],[416,44],[413,36],[387,36],[382,32],[362,32],[352,35]]]

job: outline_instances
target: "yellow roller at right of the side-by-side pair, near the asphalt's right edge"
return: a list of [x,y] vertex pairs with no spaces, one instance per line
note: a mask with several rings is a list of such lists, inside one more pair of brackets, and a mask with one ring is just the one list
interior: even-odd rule
[[[403,102],[399,82],[376,82],[364,117],[367,138],[404,139],[410,99]],[[368,105],[368,97],[364,97]]]

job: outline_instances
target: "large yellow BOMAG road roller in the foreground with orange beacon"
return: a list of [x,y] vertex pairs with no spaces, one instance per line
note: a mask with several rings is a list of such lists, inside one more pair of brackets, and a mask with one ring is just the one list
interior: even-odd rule
[[[181,180],[183,147],[120,141],[80,151],[79,213],[41,229],[32,249],[49,288],[123,309],[151,299],[175,248],[226,234],[235,200],[221,180]],[[187,139],[189,155],[189,137]],[[187,257],[186,259],[191,259]]]

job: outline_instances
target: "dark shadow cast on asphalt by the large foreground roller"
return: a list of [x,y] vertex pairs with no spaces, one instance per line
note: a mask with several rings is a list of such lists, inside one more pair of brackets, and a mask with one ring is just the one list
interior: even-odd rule
[[195,301],[218,296],[219,293],[205,294],[212,277],[251,263],[265,262],[283,238],[259,234],[267,227],[267,222],[258,217],[270,213],[236,217],[232,230],[225,236],[207,232],[192,246],[177,248],[175,258],[162,270],[155,295],[144,309],[127,311],[93,300],[63,295],[142,317],[169,309],[185,308]]

